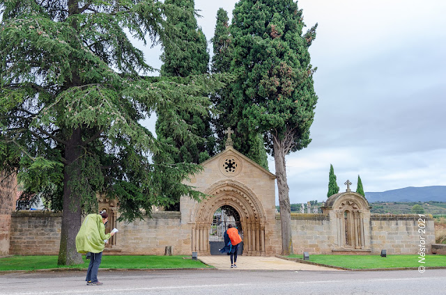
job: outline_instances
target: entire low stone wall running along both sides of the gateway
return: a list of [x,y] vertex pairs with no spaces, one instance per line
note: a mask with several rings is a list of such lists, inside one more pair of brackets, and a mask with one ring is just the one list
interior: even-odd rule
[[[61,214],[36,211],[14,212],[10,227],[10,255],[57,255],[61,234]],[[420,236],[425,240],[426,253],[435,242],[433,219],[426,218],[425,232],[414,214],[371,214],[371,254],[380,250],[387,254],[416,254],[420,251]],[[331,254],[337,248],[336,226],[328,214],[293,214],[293,250],[309,254]],[[114,254],[164,255],[172,246],[174,255],[190,255],[192,225],[181,223],[180,212],[153,212],[152,218],[132,223],[117,223]],[[273,230],[267,232],[266,248],[271,255],[280,254],[282,241],[280,216],[275,217]]]

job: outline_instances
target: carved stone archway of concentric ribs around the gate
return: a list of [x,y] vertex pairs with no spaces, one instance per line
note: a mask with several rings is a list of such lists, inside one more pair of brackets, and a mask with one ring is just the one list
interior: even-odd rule
[[236,180],[223,180],[210,186],[206,194],[212,196],[200,202],[192,221],[192,251],[209,255],[209,229],[215,211],[229,205],[240,215],[243,229],[243,253],[265,255],[265,212],[254,192]]

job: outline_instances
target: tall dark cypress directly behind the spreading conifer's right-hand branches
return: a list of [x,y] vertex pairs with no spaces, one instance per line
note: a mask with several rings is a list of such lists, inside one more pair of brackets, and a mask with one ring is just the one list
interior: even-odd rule
[[[182,42],[162,43],[161,60],[162,77],[188,77],[190,75],[207,74],[209,54],[206,37],[197,26],[194,0],[166,0],[166,5],[177,6],[183,13],[170,15],[167,22],[174,24]],[[205,95],[205,94],[203,94]],[[192,125],[195,138],[180,138],[175,136],[166,123],[164,113],[158,113],[155,126],[157,136],[163,141],[174,145],[180,152],[174,152],[174,163],[199,164],[215,154],[215,137],[210,127],[210,113],[184,111],[180,113],[182,120]]]

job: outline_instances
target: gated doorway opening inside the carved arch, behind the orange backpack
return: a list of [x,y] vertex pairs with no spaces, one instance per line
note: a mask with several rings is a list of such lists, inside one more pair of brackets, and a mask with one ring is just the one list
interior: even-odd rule
[[[240,237],[243,239],[243,228],[240,222],[240,214],[237,210],[230,205],[223,205],[218,208],[213,216],[213,222],[210,225],[209,230],[209,247],[210,255],[226,255],[226,253],[220,253],[220,249],[224,245],[224,232],[232,225],[237,228]],[[240,243],[238,255],[243,254],[243,241]]]

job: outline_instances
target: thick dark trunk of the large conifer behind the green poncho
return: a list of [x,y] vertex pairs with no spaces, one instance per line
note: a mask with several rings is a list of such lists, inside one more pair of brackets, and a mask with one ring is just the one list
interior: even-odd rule
[[67,164],[63,171],[63,213],[61,246],[58,265],[83,264],[82,255],[76,250],[76,235],[81,226],[82,204],[80,196],[73,193],[74,175],[79,175],[79,157],[81,155],[81,129],[73,129],[65,148]]

